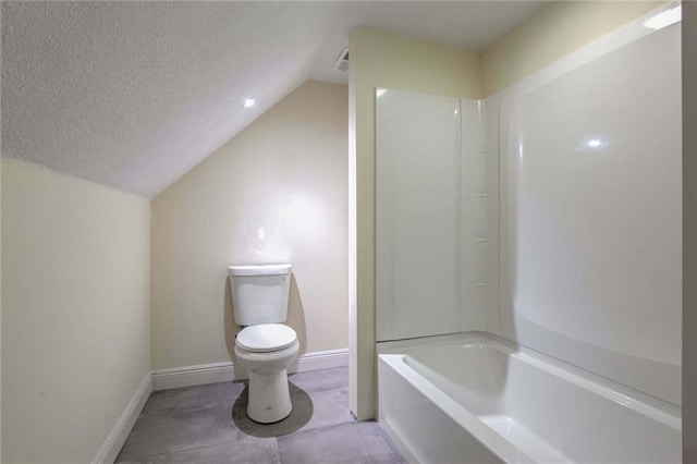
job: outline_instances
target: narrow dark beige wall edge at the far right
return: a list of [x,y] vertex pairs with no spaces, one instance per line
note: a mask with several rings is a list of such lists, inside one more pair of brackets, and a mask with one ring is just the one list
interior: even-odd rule
[[697,2],[683,2],[683,450],[697,463]]

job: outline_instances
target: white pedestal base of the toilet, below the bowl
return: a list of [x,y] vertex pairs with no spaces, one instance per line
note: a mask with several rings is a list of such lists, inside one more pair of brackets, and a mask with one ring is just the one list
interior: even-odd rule
[[255,423],[271,424],[286,418],[293,411],[288,371],[249,373],[247,416]]

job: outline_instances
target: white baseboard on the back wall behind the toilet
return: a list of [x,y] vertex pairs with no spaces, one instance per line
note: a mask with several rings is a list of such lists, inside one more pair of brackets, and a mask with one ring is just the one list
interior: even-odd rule
[[[291,364],[289,373],[330,369],[348,366],[348,350],[328,350],[305,353]],[[199,364],[196,366],[173,367],[152,370],[152,390],[203,386],[206,383],[229,382],[247,379],[247,371],[231,362]]]

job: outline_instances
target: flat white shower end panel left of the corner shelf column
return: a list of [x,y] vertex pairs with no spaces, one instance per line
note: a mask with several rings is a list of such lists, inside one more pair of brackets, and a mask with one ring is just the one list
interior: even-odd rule
[[378,89],[377,340],[456,332],[460,100]]

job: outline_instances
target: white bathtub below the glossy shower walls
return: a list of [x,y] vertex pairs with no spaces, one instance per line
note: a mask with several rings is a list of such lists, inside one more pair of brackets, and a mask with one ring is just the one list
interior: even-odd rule
[[677,406],[503,339],[378,351],[379,422],[411,462],[681,462]]

